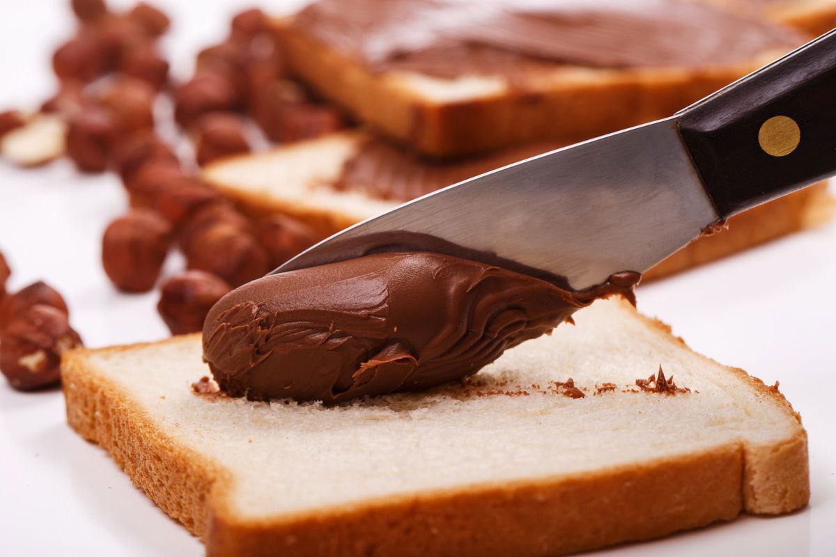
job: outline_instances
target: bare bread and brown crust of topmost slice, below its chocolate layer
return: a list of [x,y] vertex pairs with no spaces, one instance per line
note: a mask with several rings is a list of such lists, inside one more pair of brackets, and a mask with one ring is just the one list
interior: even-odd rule
[[273,27],[298,78],[378,133],[437,158],[568,144],[665,118],[785,53],[700,68],[561,65],[527,73],[523,86],[499,74],[375,73],[291,22],[276,19]]

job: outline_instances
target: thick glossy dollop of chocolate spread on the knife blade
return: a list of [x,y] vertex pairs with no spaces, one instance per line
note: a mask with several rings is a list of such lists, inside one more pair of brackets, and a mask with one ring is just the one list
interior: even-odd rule
[[637,273],[571,291],[430,252],[379,253],[265,276],[212,307],[203,357],[222,391],[340,403],[466,377]]

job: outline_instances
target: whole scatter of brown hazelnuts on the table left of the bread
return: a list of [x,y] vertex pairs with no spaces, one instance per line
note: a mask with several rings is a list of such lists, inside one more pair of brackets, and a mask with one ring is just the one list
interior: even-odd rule
[[[0,113],[0,154],[36,165],[63,153],[81,172],[115,171],[130,210],[104,230],[105,273],[120,291],[150,291],[168,253],[180,249],[187,270],[163,281],[157,308],[172,334],[198,332],[227,291],[263,276],[317,238],[285,215],[251,218],[206,185],[196,167],[250,151],[247,117],[267,139],[283,142],[334,131],[344,120],[288,78],[280,45],[258,9],[235,16],[227,39],[203,49],[194,75],[174,84],[157,44],[170,26],[166,13],[144,2],[123,13],[112,12],[104,0],[71,5],[78,31],[53,55],[58,91],[35,114]],[[181,160],[157,134],[161,94],[171,96],[195,161]],[[63,134],[63,149],[55,153],[43,137],[27,144],[47,124]],[[39,147],[21,156],[21,144]],[[2,257],[0,262],[4,285],[8,267]],[[60,354],[80,344],[63,299],[45,284],[3,297],[0,371],[13,387],[54,384]]]

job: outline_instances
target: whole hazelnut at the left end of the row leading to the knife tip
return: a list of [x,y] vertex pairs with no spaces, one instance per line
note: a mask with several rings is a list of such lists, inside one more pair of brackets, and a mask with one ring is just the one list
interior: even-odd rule
[[160,276],[170,245],[171,225],[166,219],[154,210],[131,210],[104,230],[104,272],[122,291],[149,291]]

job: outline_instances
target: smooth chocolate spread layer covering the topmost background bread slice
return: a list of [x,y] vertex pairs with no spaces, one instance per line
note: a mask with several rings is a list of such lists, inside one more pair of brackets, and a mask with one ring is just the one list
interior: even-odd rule
[[790,28],[696,0],[319,0],[294,28],[374,71],[516,74],[528,61],[696,67],[804,42]]

